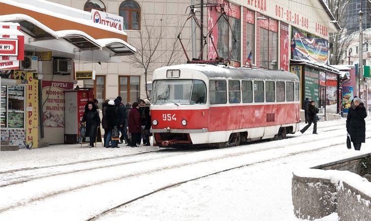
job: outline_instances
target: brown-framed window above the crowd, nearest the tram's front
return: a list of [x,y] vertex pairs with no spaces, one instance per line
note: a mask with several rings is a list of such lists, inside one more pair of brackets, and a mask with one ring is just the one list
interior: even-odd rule
[[140,77],[119,76],[119,82],[119,93],[122,98],[122,103],[138,102],[140,99]]

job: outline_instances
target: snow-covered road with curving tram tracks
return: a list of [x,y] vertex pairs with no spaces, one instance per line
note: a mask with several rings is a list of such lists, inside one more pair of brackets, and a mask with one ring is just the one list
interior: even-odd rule
[[225,149],[124,154],[120,148],[122,154],[110,155],[100,148],[101,157],[64,164],[44,155],[37,168],[25,157],[26,170],[6,157],[4,167],[0,163],[0,220],[87,220],[101,213],[99,220],[297,220],[292,171],[370,152],[369,132],[358,152],[346,148],[341,119],[320,122],[318,135],[308,129]]

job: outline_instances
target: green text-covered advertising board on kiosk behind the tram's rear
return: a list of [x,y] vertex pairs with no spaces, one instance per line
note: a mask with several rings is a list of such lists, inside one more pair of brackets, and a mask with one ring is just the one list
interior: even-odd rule
[[319,106],[320,85],[319,76],[320,72],[311,68],[305,67],[305,98],[315,101],[316,106]]

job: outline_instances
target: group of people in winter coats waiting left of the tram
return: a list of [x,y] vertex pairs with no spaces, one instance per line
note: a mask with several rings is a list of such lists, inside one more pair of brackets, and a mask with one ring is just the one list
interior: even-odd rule
[[[102,124],[104,130],[104,147],[119,147],[125,143],[126,146],[138,147],[143,140],[143,145],[150,146],[151,115],[148,99],[140,100],[125,106],[121,103],[121,97],[115,100],[105,100],[102,104],[102,120],[98,114],[98,101],[88,102],[80,127],[86,128],[86,137],[89,137],[89,146],[94,147],[97,132]],[[121,134],[121,136],[119,136]],[[117,136],[116,136],[117,135]]]

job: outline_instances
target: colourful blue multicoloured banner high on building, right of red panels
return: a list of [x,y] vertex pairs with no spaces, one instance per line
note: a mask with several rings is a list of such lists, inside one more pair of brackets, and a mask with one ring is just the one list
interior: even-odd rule
[[295,60],[309,60],[326,64],[328,57],[327,40],[306,37],[293,27],[292,52]]

